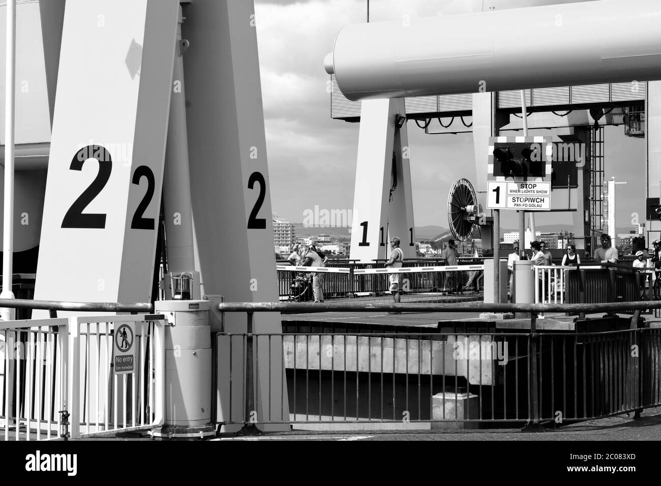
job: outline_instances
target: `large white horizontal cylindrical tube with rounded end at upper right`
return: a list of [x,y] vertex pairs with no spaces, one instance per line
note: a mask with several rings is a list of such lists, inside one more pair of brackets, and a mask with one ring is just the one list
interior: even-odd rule
[[354,101],[650,81],[660,25],[658,0],[350,24],[324,63]]

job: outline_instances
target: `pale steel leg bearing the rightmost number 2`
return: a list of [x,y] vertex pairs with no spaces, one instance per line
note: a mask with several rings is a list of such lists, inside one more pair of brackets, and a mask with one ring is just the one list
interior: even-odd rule
[[[190,101],[186,116],[191,198],[205,292],[233,302],[277,302],[256,30],[251,22],[236,21],[251,19],[254,4],[245,0],[196,1],[184,5],[184,15],[182,34],[191,45],[184,63],[186,98]],[[218,258],[219,248],[223,249],[223,259]],[[245,277],[247,284],[237,285],[227,275]],[[252,288],[251,281],[256,284]],[[255,333],[282,331],[279,313],[258,314],[254,316]],[[245,316],[228,316],[225,329],[245,332]],[[259,353],[260,363],[266,362],[268,349],[262,346]],[[273,366],[282,366],[282,348],[272,346],[271,358]],[[272,403],[286,408],[287,389],[280,382],[281,374],[269,376],[268,370],[268,366],[259,366],[258,403],[268,403],[271,379]],[[228,369],[219,370],[221,375],[227,373]],[[217,418],[225,421],[229,411],[225,397],[231,395],[236,400],[238,395],[228,389],[220,389],[219,395],[223,400]],[[257,413],[264,417],[262,410]],[[280,415],[275,408],[272,413]],[[283,415],[287,417],[288,411]],[[257,427],[290,430],[287,424],[257,423]],[[239,428],[229,426],[227,431]]]

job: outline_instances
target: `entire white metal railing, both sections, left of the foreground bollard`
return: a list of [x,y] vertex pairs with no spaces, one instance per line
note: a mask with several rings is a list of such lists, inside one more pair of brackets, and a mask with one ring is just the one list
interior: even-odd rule
[[[133,335],[132,370],[119,374],[113,340],[121,325]],[[16,440],[67,439],[162,425],[164,325],[162,315],[0,322],[5,440],[10,432]]]

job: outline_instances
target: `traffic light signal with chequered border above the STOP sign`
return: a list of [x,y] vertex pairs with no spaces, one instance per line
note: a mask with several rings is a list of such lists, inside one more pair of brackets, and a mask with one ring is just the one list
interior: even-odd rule
[[546,176],[546,157],[540,143],[496,143],[493,155],[494,176]]

